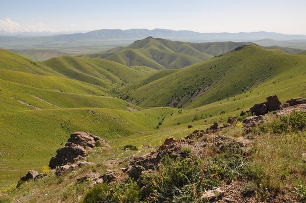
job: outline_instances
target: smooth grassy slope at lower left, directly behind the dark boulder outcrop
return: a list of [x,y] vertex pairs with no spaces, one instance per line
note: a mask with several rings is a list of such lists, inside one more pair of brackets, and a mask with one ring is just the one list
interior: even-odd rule
[[2,171],[0,185],[15,183],[20,173],[29,169],[40,171],[72,132],[90,131],[107,140],[122,139],[136,132],[153,131],[161,118],[172,111],[79,108],[2,112],[0,166],[12,168]]

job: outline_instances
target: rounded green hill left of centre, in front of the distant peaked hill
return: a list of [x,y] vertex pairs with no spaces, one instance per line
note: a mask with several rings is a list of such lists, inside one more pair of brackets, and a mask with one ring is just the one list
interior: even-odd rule
[[42,63],[68,78],[104,88],[112,88],[122,83],[128,83],[147,74],[135,68],[129,68],[105,59],[64,56],[52,58]]

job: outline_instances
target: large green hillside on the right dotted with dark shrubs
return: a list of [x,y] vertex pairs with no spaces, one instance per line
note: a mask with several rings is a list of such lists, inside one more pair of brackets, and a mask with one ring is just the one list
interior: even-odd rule
[[305,64],[303,56],[250,44],[128,93],[123,90],[123,94],[126,93],[131,102],[146,107],[200,107],[251,90],[276,75],[290,78],[291,74],[304,74]]

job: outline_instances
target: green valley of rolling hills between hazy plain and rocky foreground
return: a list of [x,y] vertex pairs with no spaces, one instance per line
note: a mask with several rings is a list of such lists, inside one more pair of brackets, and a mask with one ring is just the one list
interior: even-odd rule
[[[134,154],[154,151],[169,137],[183,139],[214,122],[226,123],[270,95],[282,104],[306,97],[301,49],[147,37],[104,52],[53,56],[36,61],[0,49],[0,193],[11,192],[30,169],[42,172],[73,132],[88,131],[109,142],[111,149],[96,147],[88,155],[88,161],[100,165],[79,171],[104,173]],[[246,139],[236,125],[225,134]],[[297,134],[305,136],[304,131]],[[127,145],[137,150],[123,150]],[[57,178],[52,174],[24,184],[39,188],[45,180],[49,193]],[[64,190],[74,184],[71,180],[59,187]],[[44,201],[79,202],[86,184],[82,194],[73,189],[68,197],[56,191]],[[30,201],[20,188],[11,200]],[[33,194],[33,201],[41,195]]]

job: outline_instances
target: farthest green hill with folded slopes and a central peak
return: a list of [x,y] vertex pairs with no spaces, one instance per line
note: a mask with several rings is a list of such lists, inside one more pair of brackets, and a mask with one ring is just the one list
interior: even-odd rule
[[104,58],[126,66],[144,65],[156,69],[177,69],[206,61],[243,44],[246,43],[190,43],[147,37],[126,47],[117,47],[104,53],[87,54],[83,57]]

